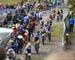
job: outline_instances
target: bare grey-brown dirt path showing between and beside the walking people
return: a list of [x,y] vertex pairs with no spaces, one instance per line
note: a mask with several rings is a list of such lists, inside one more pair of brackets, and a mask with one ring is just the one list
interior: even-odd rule
[[[64,10],[64,18],[67,15],[67,9],[63,9]],[[46,12],[46,14],[44,14],[43,16],[43,21],[46,23],[46,20],[48,19],[49,16],[49,11]],[[63,18],[63,19],[64,19]],[[60,22],[57,22],[56,20],[53,21],[53,26],[58,26],[58,25],[63,25],[62,20],[60,20]],[[36,26],[36,30],[40,29],[40,26]],[[54,32],[54,31],[52,31]],[[62,51],[62,45],[61,45],[61,40],[58,40],[58,38],[56,36],[54,36],[52,34],[51,36],[52,41],[49,42],[47,39],[45,40],[45,45],[42,45],[42,42],[40,43],[40,55],[42,56],[47,56],[49,53],[53,53],[53,52],[61,52]],[[40,39],[41,40],[41,39]],[[35,50],[33,49],[32,53],[35,53]]]

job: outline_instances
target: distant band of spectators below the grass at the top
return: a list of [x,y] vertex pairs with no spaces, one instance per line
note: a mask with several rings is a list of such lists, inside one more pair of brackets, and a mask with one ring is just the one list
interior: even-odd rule
[[[46,3],[46,4],[45,4]],[[60,3],[53,3],[53,2],[45,2],[43,4],[38,3],[36,5],[36,2],[34,1],[33,3],[30,3],[30,1],[24,2],[22,0],[21,2],[15,3],[15,4],[10,4],[10,5],[5,5],[0,1],[0,14],[8,13],[8,11],[15,11],[18,9],[24,9],[26,12],[34,11],[36,9],[41,9],[41,10],[51,10],[52,8],[56,8],[56,5],[62,5],[62,2]]]

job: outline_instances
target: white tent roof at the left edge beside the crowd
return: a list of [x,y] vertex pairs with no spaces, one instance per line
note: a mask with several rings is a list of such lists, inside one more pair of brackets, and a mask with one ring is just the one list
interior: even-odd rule
[[0,43],[5,40],[9,35],[13,32],[12,29],[9,28],[0,28]]

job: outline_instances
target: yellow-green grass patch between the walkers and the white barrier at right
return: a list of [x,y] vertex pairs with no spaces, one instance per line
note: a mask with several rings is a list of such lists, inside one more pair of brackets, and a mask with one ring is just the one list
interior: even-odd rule
[[54,37],[56,37],[58,40],[62,39],[62,35],[63,35],[63,25],[56,25],[53,26],[52,28],[52,35]]

